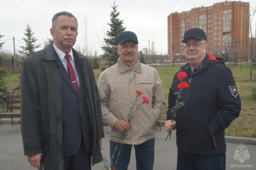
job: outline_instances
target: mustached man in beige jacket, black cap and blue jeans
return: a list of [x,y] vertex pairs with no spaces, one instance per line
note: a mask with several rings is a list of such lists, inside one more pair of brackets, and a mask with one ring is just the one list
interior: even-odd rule
[[[111,168],[127,170],[134,145],[137,169],[152,170],[154,128],[165,104],[162,82],[156,69],[140,63],[136,58],[138,39],[133,32],[124,31],[118,36],[117,51],[120,55],[117,63],[102,72],[98,81],[102,118],[109,125],[110,158],[122,132],[127,131],[118,161],[116,163],[120,144],[115,157],[111,159]],[[149,99],[149,104],[142,104],[128,124],[128,114],[136,99],[136,90],[143,92],[143,96]],[[142,97],[139,97],[134,110],[142,101]]]

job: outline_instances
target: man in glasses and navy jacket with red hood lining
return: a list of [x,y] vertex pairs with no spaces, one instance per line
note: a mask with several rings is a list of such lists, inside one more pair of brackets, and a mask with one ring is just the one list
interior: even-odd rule
[[[185,32],[182,43],[188,60],[174,76],[169,92],[169,110],[164,130],[176,128],[178,147],[177,169],[225,169],[225,128],[239,116],[241,101],[235,80],[225,62],[206,53],[204,30],[192,28]],[[177,74],[188,74],[183,81],[189,87],[182,90],[172,122],[172,108],[177,100],[180,80]]]

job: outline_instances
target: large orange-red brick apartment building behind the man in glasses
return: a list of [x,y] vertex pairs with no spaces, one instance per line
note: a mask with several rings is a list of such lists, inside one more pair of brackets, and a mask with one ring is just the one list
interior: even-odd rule
[[[249,3],[225,1],[209,7],[197,7],[186,12],[174,12],[167,17],[168,55],[184,59],[183,35],[190,28],[201,28],[207,36],[208,54],[226,60],[247,61],[249,42]],[[228,54],[228,55],[225,55]],[[228,56],[228,57],[227,57]]]

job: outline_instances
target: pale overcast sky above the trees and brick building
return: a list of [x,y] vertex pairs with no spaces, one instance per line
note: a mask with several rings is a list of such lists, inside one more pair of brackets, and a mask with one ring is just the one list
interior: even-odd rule
[[[175,11],[190,11],[194,7],[212,6],[216,2],[225,0],[116,0],[119,19],[123,19],[126,31],[132,31],[138,36],[139,50],[148,47],[148,39],[155,41],[157,54],[167,54],[167,16]],[[255,6],[255,0],[242,0]],[[82,44],[84,18],[87,18],[88,40],[97,55],[103,51],[100,49],[100,41],[103,42],[104,30],[109,29],[111,6],[114,0],[1,0],[0,1],[0,34],[5,35],[0,40],[6,40],[4,51],[13,52],[21,50],[19,46],[25,45],[21,39],[25,37],[26,25],[29,24],[38,38],[36,44],[52,38],[50,28],[52,17],[61,11],[73,13],[78,20],[78,36],[76,43]],[[255,28],[255,27],[254,27]],[[11,39],[11,40],[9,40]],[[3,41],[0,41],[3,42]],[[22,42],[22,43],[21,43]],[[74,46],[76,49],[76,44]],[[39,48],[38,50],[43,49]]]

